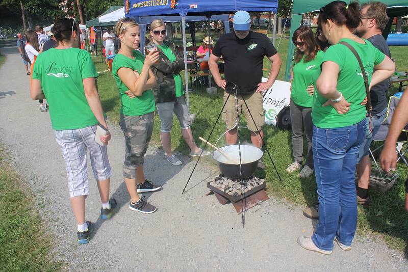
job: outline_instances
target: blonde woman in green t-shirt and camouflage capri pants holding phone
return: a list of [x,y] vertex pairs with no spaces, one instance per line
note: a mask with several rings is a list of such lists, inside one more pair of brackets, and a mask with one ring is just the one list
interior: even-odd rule
[[129,208],[142,213],[153,213],[156,207],[146,202],[138,193],[155,192],[161,186],[151,184],[144,176],[144,154],[153,132],[155,99],[151,88],[156,78],[150,66],[159,60],[159,53],[151,51],[146,58],[140,51],[139,25],[129,18],[116,23],[121,42],[112,64],[112,74],[119,88],[121,100],[119,125],[125,138],[123,177],[131,197]]

